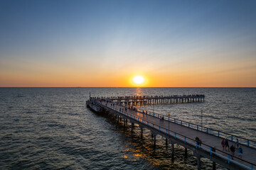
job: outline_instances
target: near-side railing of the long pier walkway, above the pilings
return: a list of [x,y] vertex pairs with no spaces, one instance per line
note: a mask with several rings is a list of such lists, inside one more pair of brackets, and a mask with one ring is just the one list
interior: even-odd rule
[[[244,159],[240,159],[238,157],[235,157],[233,156],[235,159],[238,159],[240,160],[241,162],[244,162],[245,164],[249,165],[245,165],[245,164],[241,164],[240,162],[237,162],[235,161],[234,159],[230,159],[231,158],[231,155],[226,153],[226,152],[223,152],[221,151],[220,149],[215,149],[215,152],[214,152],[214,149],[213,147],[211,147],[210,145],[206,145],[206,144],[203,144],[203,146],[200,146],[198,145],[194,139],[190,138],[190,137],[186,137],[184,135],[181,135],[180,133],[178,132],[174,132],[173,130],[169,130],[169,129],[166,129],[160,125],[157,125],[155,123],[152,123],[151,121],[149,120],[146,120],[145,118],[142,118],[142,117],[139,117],[137,115],[133,115],[132,113],[129,113],[127,111],[119,111],[117,108],[114,108],[112,106],[109,106],[109,105],[104,105],[103,103],[101,103],[100,101],[98,101],[98,103],[102,106],[105,106],[107,108],[110,108],[114,111],[117,111],[118,113],[121,113],[122,115],[125,115],[133,120],[136,120],[138,121],[139,123],[142,123],[150,128],[153,128],[155,130],[159,130],[159,132],[162,132],[164,133],[164,135],[168,135],[169,137],[174,137],[174,139],[176,140],[180,140],[181,142],[184,142],[185,144],[188,143],[189,145],[192,145],[193,147],[195,147],[196,149],[203,149],[204,151],[208,152],[210,155],[216,155],[222,159],[225,159],[228,164],[230,164],[230,162],[232,162],[233,164],[237,164],[238,166],[241,166],[242,168],[244,169],[250,169],[250,170],[253,170],[254,167],[256,166],[256,164],[253,164],[251,162],[247,162],[246,160]],[[223,155],[224,154],[224,155]]]

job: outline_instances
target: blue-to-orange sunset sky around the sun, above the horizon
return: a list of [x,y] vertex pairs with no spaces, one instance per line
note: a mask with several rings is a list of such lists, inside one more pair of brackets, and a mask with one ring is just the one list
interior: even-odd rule
[[[255,8],[0,0],[0,86],[256,87]],[[132,82],[137,75],[144,84]]]

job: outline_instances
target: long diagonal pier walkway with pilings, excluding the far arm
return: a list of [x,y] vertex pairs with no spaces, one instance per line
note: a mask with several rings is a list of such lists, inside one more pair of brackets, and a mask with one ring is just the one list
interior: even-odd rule
[[[124,120],[127,123],[137,123],[143,132],[143,128],[151,130],[154,135],[154,144],[156,143],[156,135],[166,137],[166,140],[172,145],[172,159],[174,159],[174,144],[182,145],[186,149],[191,149],[193,154],[198,158],[198,169],[201,169],[200,159],[206,157],[218,163],[227,169],[255,169],[256,166],[256,142],[236,137],[234,135],[219,132],[217,130],[201,127],[187,123],[183,120],[173,118],[164,118],[160,120],[161,115],[151,113],[149,111],[139,110],[135,107],[124,106],[122,103],[114,103],[114,100],[108,98],[93,99],[95,105],[102,108],[102,111],[110,115],[117,116],[118,120]],[[195,137],[202,140],[202,146],[196,145]],[[229,145],[235,145],[235,139],[240,139],[243,154],[242,159],[238,158],[238,152],[235,151],[234,159],[231,159],[231,152],[222,150],[220,145],[223,138],[229,140]],[[234,142],[233,142],[234,141]],[[215,151],[215,152],[214,152]],[[214,169],[214,168],[213,168]]]

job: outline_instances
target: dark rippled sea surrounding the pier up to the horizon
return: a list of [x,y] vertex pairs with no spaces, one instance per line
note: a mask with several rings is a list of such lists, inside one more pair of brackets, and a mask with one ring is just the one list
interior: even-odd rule
[[[205,94],[204,103],[145,106],[256,140],[255,88],[0,88],[0,169],[196,169],[196,158],[151,133],[88,110],[92,96]],[[203,159],[202,169],[212,169]],[[222,169],[218,166],[218,169]]]

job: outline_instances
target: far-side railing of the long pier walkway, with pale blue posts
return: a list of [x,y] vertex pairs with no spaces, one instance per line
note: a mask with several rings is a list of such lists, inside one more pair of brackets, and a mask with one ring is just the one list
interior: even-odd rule
[[177,118],[166,117],[166,115],[161,115],[159,113],[146,111],[146,110],[141,109],[141,108],[136,108],[136,109],[139,113],[148,114],[148,115],[154,116],[156,118],[161,118],[161,117],[164,116],[165,120],[170,121],[171,123],[176,123],[176,124],[179,124],[179,125],[183,125],[183,126],[186,126],[188,128],[194,129],[194,130],[200,130],[200,131],[206,132],[210,135],[215,135],[215,136],[218,136],[218,137],[228,139],[231,142],[236,142],[235,139],[238,139],[240,145],[246,145],[248,147],[253,147],[253,148],[256,149],[256,141],[255,140],[248,140],[244,137],[239,137],[237,135],[231,135],[227,132],[222,132],[220,130],[214,130],[212,128],[207,128],[205,126],[196,125],[195,123],[189,123],[186,120],[180,120],[180,119],[177,119]]

